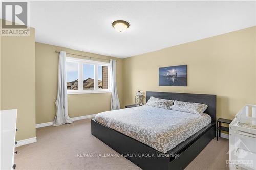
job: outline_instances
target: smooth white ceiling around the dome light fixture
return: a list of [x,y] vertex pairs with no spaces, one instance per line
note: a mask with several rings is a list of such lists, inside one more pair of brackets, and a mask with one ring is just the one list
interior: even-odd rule
[[[36,42],[125,58],[255,25],[255,2],[34,1]],[[130,23],[126,32],[115,20]]]

